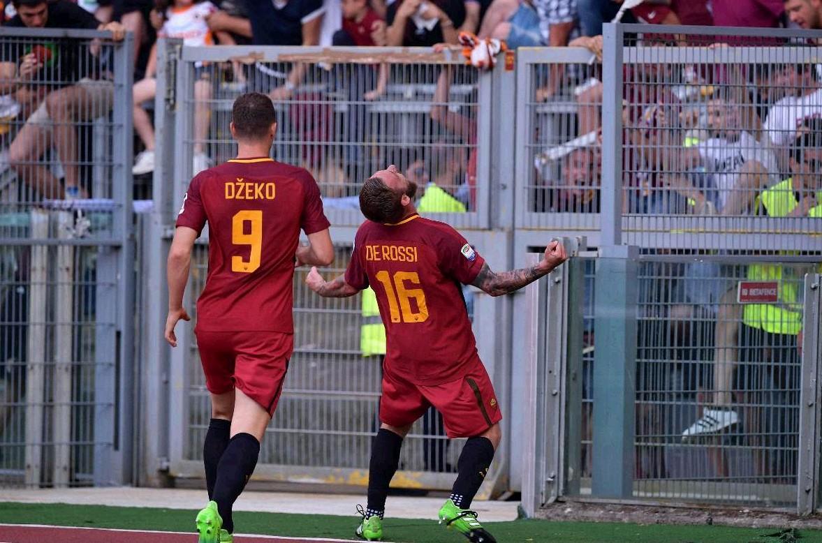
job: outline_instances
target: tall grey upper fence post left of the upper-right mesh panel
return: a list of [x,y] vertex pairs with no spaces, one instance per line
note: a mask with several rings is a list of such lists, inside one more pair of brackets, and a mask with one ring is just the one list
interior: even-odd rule
[[600,245],[622,243],[622,26],[603,25],[603,168]]

